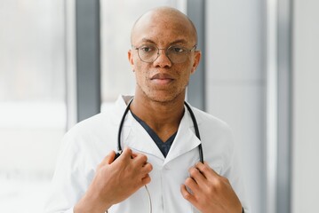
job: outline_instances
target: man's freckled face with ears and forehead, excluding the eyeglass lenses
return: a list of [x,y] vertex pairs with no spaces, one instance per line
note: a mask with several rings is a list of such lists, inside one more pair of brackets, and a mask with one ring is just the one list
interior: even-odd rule
[[[195,43],[194,29],[185,17],[170,17],[163,14],[148,14],[142,17],[132,32],[132,45],[155,44],[160,55],[154,62],[144,62],[138,51],[129,51],[128,57],[135,71],[136,96],[158,102],[185,99],[190,75],[195,72],[200,60],[200,51],[190,51],[182,63],[173,63],[165,50],[171,45],[192,49]],[[144,18],[144,19],[143,19]]]

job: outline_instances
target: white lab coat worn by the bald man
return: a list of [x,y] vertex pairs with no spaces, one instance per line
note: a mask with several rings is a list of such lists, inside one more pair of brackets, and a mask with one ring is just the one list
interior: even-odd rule
[[[69,213],[92,182],[97,165],[111,151],[117,149],[117,131],[126,107],[124,99],[117,99],[107,112],[79,122],[68,131],[62,141],[57,168],[52,178],[52,193],[45,205],[46,213]],[[229,179],[240,198],[245,212],[249,212],[238,169],[235,144],[225,122],[192,107],[202,138],[204,161],[220,175]],[[180,185],[188,177],[187,170],[199,161],[198,145],[192,119],[185,108],[179,130],[166,158],[148,132],[129,112],[122,131],[122,147],[146,154],[153,165],[148,190],[153,213],[199,212],[180,193]],[[110,194],[111,196],[112,194]],[[148,192],[145,187],[125,201],[108,209],[109,213],[148,213]]]

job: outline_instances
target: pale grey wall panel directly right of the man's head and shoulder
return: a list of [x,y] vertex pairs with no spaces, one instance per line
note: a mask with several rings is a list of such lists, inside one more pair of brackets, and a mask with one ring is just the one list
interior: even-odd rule
[[207,111],[234,130],[251,200],[266,210],[265,72],[261,0],[206,1]]

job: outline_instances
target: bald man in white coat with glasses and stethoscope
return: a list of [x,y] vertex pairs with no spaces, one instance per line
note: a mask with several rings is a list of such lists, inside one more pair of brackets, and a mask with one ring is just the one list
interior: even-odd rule
[[[200,140],[184,105],[201,59],[191,20],[156,8],[136,21],[131,42],[134,97],[121,96],[108,112],[68,131],[45,212],[249,212],[227,124],[191,107]],[[115,159],[123,116],[124,151]]]

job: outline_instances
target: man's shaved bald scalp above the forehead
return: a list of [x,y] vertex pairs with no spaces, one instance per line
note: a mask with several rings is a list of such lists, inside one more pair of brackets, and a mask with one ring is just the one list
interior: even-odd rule
[[161,28],[161,30],[179,30],[179,34],[188,36],[187,39],[197,43],[197,32],[194,23],[187,15],[171,7],[157,7],[146,12],[133,25],[131,42],[134,43],[142,28]]

